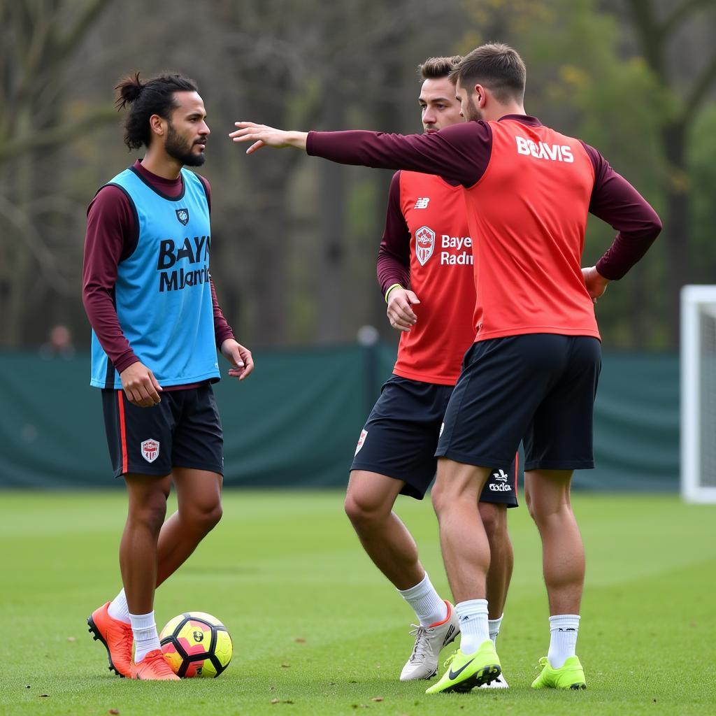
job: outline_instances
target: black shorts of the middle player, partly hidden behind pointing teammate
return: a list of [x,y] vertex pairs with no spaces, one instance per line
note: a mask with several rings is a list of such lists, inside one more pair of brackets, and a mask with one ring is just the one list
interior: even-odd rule
[[[422,500],[435,477],[435,448],[452,392],[452,385],[391,376],[361,432],[351,470],[402,480],[400,493]],[[516,453],[490,477],[481,502],[517,506]]]

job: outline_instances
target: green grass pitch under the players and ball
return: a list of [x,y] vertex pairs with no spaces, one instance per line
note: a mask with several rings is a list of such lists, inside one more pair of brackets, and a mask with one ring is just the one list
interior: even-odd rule
[[[181,611],[216,614],[233,662],[218,679],[180,684],[115,677],[87,633],[87,615],[120,587],[123,493],[1,493],[0,713],[716,713],[716,506],[652,495],[574,502],[587,551],[578,653],[588,690],[529,688],[548,612],[539,539],[520,508],[498,638],[511,690],[428,697],[425,682],[397,681],[412,612],[360,550],[341,493],[225,495],[223,521],[155,609],[159,627]],[[405,499],[398,512],[447,595],[430,504]]]

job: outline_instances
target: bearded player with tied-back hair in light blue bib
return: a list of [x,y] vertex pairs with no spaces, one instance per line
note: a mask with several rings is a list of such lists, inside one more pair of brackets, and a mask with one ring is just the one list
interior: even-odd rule
[[[197,87],[178,74],[142,82],[137,73],[117,89],[117,105],[130,107],[125,144],[146,152],[89,205],[83,299],[91,384],[102,390],[110,456],[129,508],[124,589],[87,623],[121,677],[174,680],[157,635],[155,587],[221,518],[216,349],[240,380],[253,361],[234,339],[209,274],[208,182],[184,168],[204,163],[209,135]],[[172,483],[178,511],[165,522]]]

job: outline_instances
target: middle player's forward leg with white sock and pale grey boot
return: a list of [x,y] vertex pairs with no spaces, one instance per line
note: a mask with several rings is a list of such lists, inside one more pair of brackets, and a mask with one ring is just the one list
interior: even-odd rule
[[452,605],[440,599],[425,574],[415,540],[392,511],[404,485],[387,475],[352,470],[344,507],[368,556],[415,609],[415,644],[400,674],[401,681],[412,681],[435,674],[440,650],[455,639],[458,624]]

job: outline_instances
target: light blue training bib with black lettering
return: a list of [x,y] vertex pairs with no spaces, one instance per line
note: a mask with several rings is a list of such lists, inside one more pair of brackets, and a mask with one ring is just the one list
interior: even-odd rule
[[[132,168],[112,179],[135,211],[137,246],[117,266],[115,308],[137,358],[161,386],[219,377],[209,284],[211,227],[206,191],[181,170],[183,192],[170,198]],[[120,376],[92,331],[92,380],[121,388]]]

